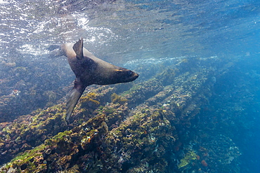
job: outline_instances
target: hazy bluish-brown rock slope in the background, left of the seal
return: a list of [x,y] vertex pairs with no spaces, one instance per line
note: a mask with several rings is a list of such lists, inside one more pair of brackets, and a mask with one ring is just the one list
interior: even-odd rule
[[57,104],[70,90],[64,87],[69,81],[63,78],[72,75],[65,74],[56,62],[38,63],[0,62],[0,123]]

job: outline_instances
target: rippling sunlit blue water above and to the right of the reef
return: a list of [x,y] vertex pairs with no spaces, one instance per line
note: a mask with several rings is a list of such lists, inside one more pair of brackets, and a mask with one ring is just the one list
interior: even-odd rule
[[[222,91],[230,90],[234,98],[241,89],[234,89],[236,80],[248,84],[243,97],[252,99],[240,111],[247,118],[234,117],[232,123],[241,123],[240,129],[232,131],[230,126],[242,153],[241,172],[260,170],[259,33],[258,0],[124,0],[88,6],[86,1],[0,0],[0,61],[4,62],[39,64],[51,71],[48,47],[81,37],[97,57],[133,68],[191,56],[242,58],[226,81],[218,81],[219,90],[211,100],[216,109],[223,109],[218,107]],[[70,70],[65,59],[51,60]],[[240,78],[247,75],[251,81]],[[65,86],[72,80],[70,74],[58,82]],[[229,102],[235,105],[239,100]]]

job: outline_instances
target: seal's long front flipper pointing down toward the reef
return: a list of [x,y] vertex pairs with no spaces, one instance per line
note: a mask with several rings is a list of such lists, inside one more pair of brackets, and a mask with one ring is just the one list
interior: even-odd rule
[[67,95],[66,120],[69,120],[72,111],[79,101],[79,98],[82,96],[85,88],[86,87],[76,78],[74,81],[74,88],[72,88],[69,95]]

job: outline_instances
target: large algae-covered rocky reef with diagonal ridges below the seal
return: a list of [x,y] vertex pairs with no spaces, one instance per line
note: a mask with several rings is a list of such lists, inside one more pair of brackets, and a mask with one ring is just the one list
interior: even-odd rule
[[231,136],[201,121],[234,64],[178,60],[148,80],[87,88],[69,122],[61,102],[1,123],[0,172],[239,172]]

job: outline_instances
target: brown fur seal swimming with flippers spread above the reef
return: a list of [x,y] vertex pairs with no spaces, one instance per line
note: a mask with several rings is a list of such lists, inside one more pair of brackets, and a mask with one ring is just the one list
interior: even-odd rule
[[65,43],[61,45],[61,50],[67,56],[70,68],[76,76],[74,88],[67,95],[66,120],[70,118],[87,86],[127,83],[138,78],[138,74],[134,71],[117,67],[95,57],[89,50],[83,48],[83,39],[74,44]]

